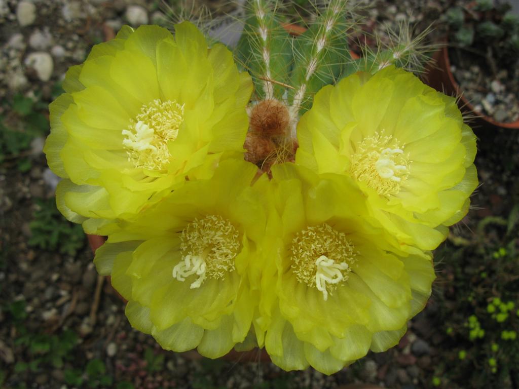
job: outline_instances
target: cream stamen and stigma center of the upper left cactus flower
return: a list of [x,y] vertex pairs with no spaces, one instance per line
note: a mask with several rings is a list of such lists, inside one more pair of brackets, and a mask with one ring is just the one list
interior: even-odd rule
[[160,99],[144,104],[130,121],[122,145],[135,168],[163,170],[170,160],[168,141],[175,140],[184,120],[184,105]]

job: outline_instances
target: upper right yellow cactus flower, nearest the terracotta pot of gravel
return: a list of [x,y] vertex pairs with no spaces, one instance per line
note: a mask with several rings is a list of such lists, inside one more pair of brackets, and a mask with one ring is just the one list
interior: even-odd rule
[[412,73],[389,66],[322,88],[297,137],[296,163],[352,177],[401,243],[434,249],[468,212],[475,136],[455,99]]

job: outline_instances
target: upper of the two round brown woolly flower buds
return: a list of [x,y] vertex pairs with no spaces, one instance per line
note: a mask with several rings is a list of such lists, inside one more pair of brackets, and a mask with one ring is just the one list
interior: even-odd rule
[[256,134],[271,138],[284,135],[289,121],[286,105],[274,99],[263,100],[252,108],[250,126]]

